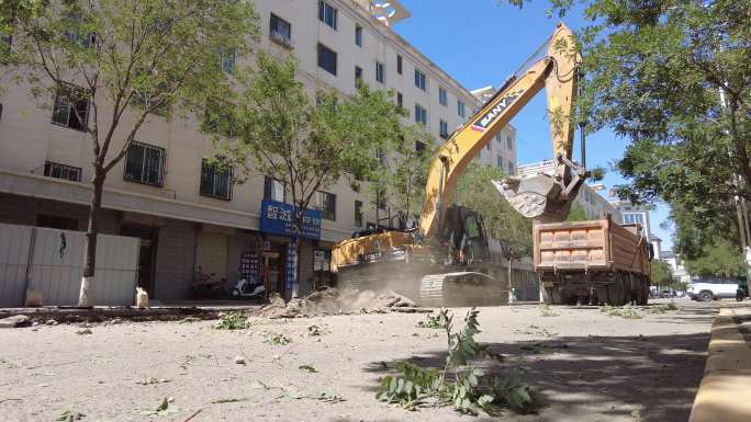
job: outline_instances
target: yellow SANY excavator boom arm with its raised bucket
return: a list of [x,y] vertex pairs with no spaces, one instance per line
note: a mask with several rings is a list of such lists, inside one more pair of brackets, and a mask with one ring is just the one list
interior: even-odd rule
[[[575,186],[564,189],[574,178],[571,170],[573,127],[570,117],[576,92],[579,61],[579,56],[574,50],[573,34],[565,25],[559,24],[548,44],[546,57],[535,62],[520,77],[507,82],[485,103],[482,110],[453,133],[440,148],[428,174],[421,218],[421,229],[425,236],[435,235],[441,229],[439,226],[442,224],[448,207],[448,198],[467,166],[542,88],[546,88],[548,92],[553,157],[558,159],[558,164],[554,179],[539,181],[542,183],[537,183],[540,186],[536,186],[535,191],[542,191],[543,198],[552,197],[550,201],[545,201],[534,194],[525,196],[524,194],[517,195],[516,191],[502,192],[517,210],[528,217],[540,217],[548,212],[546,216],[559,218],[561,214],[568,213],[572,199],[568,198],[568,195],[575,196],[581,184],[576,179]],[[581,169],[574,168],[573,172],[583,175]],[[558,186],[557,183],[562,186]],[[514,199],[517,199],[516,203]],[[539,201],[543,201],[541,208],[539,203],[536,203],[536,206],[528,204]]]

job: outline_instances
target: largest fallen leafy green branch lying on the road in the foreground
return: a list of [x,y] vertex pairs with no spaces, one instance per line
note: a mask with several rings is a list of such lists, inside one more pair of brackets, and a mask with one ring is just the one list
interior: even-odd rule
[[[397,362],[399,375],[388,375],[381,380],[377,398],[399,403],[407,410],[416,410],[430,401],[453,408],[467,414],[493,413],[493,403],[505,403],[517,412],[536,411],[539,402],[530,395],[530,388],[517,377],[498,376],[487,379],[484,370],[474,367],[473,361],[490,353],[478,344],[474,335],[480,332],[479,311],[472,308],[464,317],[461,331],[453,332],[452,316],[441,309],[436,321],[442,323],[448,343],[448,356],[442,370],[422,368],[408,362]],[[495,396],[494,396],[495,395]]]

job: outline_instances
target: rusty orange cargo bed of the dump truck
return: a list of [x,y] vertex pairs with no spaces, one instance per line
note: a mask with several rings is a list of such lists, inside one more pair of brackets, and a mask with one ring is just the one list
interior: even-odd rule
[[609,218],[536,224],[534,243],[537,271],[597,270],[649,274],[649,256],[637,228],[619,226]]

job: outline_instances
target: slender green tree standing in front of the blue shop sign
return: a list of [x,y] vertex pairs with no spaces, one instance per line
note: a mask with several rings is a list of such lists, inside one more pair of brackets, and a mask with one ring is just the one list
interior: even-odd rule
[[379,164],[375,151],[392,144],[401,128],[400,110],[386,92],[366,84],[344,99],[321,91],[313,105],[296,69],[292,58],[259,52],[257,70],[238,76],[239,89],[218,109],[226,118],[215,133],[226,138],[221,153],[228,164],[284,184],[296,209],[299,251],[303,212],[316,192],[346,178],[355,184],[368,180]]

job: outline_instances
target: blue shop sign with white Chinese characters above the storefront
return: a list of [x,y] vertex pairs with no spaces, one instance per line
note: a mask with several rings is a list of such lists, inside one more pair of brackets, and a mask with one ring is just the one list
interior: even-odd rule
[[[294,237],[295,207],[276,201],[264,199],[260,210],[260,231],[273,235]],[[305,209],[301,237],[321,239],[321,218],[318,209]]]

